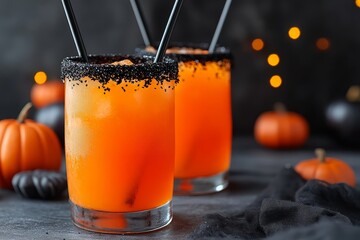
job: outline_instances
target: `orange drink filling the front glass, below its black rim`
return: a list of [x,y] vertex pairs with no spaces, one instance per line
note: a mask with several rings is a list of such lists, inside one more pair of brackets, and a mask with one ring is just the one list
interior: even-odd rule
[[147,88],[141,81],[117,85],[110,80],[105,85],[110,91],[104,92],[99,82],[82,80],[65,79],[70,200],[108,212],[141,211],[169,202],[174,81],[164,81],[160,89],[155,80]]

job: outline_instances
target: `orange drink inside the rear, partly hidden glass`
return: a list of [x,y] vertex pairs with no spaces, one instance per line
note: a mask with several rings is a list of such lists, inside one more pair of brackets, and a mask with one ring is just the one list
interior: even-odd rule
[[179,63],[175,96],[175,178],[225,172],[231,155],[230,61]]

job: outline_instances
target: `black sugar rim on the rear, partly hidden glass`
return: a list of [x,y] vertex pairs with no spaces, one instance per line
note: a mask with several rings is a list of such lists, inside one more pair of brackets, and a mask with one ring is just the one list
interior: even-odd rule
[[[168,48],[173,47],[184,47],[184,48],[198,48],[202,50],[208,50],[209,44],[207,43],[170,43]],[[136,52],[140,56],[152,56],[153,54],[147,52],[145,48],[137,48]],[[196,61],[201,64],[205,64],[206,62],[217,62],[223,61],[224,59],[228,59],[232,62],[232,54],[230,50],[223,46],[217,46],[213,53],[210,54],[183,54],[183,53],[168,53],[165,55],[168,58],[171,58],[177,62],[192,62]]]

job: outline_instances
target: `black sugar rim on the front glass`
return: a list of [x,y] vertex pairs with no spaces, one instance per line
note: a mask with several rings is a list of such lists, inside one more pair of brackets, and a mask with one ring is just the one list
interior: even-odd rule
[[[135,55],[89,55],[89,62],[81,57],[67,57],[61,62],[61,79],[71,81],[89,77],[91,80],[106,84],[110,80],[122,81],[172,81],[178,82],[178,64],[176,61],[164,58],[162,62],[153,63],[153,56]],[[131,60],[133,65],[111,65],[113,62]]]

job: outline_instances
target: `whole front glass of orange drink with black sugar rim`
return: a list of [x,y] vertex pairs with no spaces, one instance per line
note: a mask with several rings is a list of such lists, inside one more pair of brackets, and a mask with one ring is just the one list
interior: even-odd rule
[[172,219],[178,66],[152,61],[108,55],[62,62],[66,170],[78,227],[136,233]]

